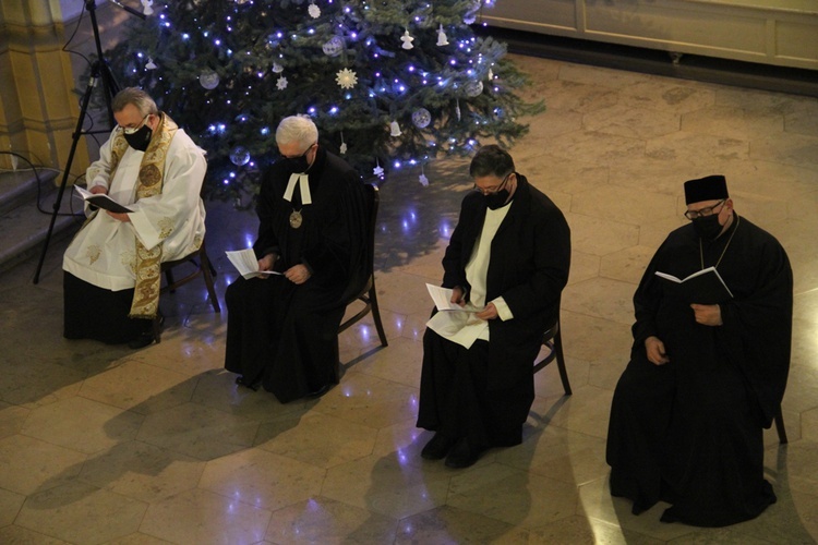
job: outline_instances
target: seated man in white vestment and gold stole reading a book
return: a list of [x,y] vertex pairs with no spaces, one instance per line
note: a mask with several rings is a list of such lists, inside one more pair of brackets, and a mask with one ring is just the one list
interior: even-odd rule
[[122,89],[111,109],[117,126],[85,179],[129,211],[86,206],[63,256],[63,335],[141,348],[154,341],[159,264],[202,244],[207,162],[144,90]]

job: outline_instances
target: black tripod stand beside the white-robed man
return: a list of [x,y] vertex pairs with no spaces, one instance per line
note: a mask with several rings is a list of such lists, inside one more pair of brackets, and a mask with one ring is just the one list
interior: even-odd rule
[[[46,233],[46,241],[43,244],[43,253],[37,264],[37,271],[34,274],[34,283],[39,282],[39,274],[43,270],[43,263],[46,261],[46,253],[48,252],[48,243],[51,240],[53,233],[53,226],[57,221],[57,215],[60,211],[60,204],[62,203],[62,195],[65,193],[65,185],[68,183],[69,173],[71,171],[71,165],[74,161],[74,154],[76,153],[76,145],[80,142],[80,136],[83,134],[92,134],[92,132],[83,131],[85,124],[85,117],[88,114],[88,104],[91,102],[91,96],[94,93],[94,88],[99,82],[103,83],[103,93],[105,96],[106,106],[108,107],[108,123],[110,131],[113,129],[113,110],[111,108],[111,99],[119,92],[119,85],[111,74],[110,68],[103,56],[103,45],[99,40],[99,26],[97,25],[96,16],[96,2],[95,0],[85,0],[85,9],[88,10],[91,16],[91,25],[94,31],[94,44],[96,46],[97,58],[91,65],[91,77],[88,78],[88,85],[85,87],[85,93],[80,106],[80,118],[76,120],[76,128],[72,135],[71,152],[69,152],[68,162],[65,170],[62,174],[62,181],[60,182],[60,189],[57,192],[57,199],[53,204],[53,213],[51,213],[51,222],[48,226],[48,232]],[[140,14],[141,15],[141,14]],[[104,132],[104,131],[96,131]]]

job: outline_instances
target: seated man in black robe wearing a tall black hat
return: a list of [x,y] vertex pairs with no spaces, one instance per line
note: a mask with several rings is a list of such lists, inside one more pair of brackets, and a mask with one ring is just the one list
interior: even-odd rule
[[[686,182],[685,201],[691,223],[670,233],[634,295],[608,434],[611,494],[634,514],[662,500],[664,522],[724,526],[775,501],[762,428],[786,385],[793,279],[781,244],[735,213],[724,177]],[[711,266],[732,298],[697,301],[655,275]]]

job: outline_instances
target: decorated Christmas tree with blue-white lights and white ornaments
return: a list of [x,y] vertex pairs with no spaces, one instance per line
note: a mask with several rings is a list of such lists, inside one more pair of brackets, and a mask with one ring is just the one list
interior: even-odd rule
[[156,98],[208,152],[206,193],[254,194],[275,129],[313,118],[364,177],[510,146],[540,111],[506,48],[471,25],[489,0],[142,0],[107,53],[122,86]]

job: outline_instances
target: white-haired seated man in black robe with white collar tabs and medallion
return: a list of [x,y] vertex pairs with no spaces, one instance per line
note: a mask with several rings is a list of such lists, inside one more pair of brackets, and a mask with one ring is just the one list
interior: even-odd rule
[[366,280],[368,208],[360,175],[318,145],[308,117],[276,130],[281,159],[258,195],[260,270],[227,289],[225,368],[282,403],[338,384],[338,326]]

